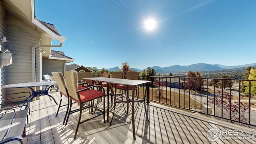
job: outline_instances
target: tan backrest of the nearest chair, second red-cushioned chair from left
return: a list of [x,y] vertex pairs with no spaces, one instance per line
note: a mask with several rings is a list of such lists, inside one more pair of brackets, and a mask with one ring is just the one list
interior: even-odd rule
[[66,71],[64,72],[64,77],[66,81],[66,86],[68,88],[69,96],[80,101],[80,97],[77,94],[77,91],[78,91],[77,72],[75,70]]

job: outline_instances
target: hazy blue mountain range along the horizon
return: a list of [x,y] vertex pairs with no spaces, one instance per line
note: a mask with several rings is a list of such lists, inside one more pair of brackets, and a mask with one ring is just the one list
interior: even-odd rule
[[[252,64],[244,64],[244,65],[238,65],[238,66],[224,66],[221,64],[204,64],[204,63],[198,63],[198,64],[191,64],[189,66],[180,66],[180,65],[174,65],[174,66],[167,66],[164,68],[161,68],[160,66],[153,66],[153,68],[158,74],[164,74],[164,73],[170,73],[170,72],[189,72],[191,71],[209,71],[209,70],[227,70],[232,68],[243,68],[248,66],[256,66],[256,63]],[[114,68],[106,68],[108,71],[118,71],[120,68],[118,66]],[[139,68],[130,68],[131,70],[135,70],[137,72],[142,72]]]

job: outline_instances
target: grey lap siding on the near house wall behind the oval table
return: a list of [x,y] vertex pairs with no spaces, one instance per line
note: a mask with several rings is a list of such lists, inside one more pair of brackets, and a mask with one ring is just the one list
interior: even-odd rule
[[[23,27],[23,28],[22,28]],[[24,30],[26,27],[26,30]],[[6,67],[6,84],[32,82],[32,46],[40,44],[39,32],[18,18],[8,15],[6,20],[7,48],[12,64]],[[36,48],[36,80],[39,80],[39,49]],[[39,80],[40,81],[40,80]],[[7,93],[31,91],[28,88],[7,89]]]

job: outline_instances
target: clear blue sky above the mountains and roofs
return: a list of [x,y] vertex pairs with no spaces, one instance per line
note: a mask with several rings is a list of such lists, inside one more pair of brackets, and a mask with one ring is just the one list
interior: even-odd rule
[[[35,0],[35,16],[67,38],[52,50],[86,67],[236,66],[256,62],[255,6],[255,0]],[[145,28],[150,19],[153,30]]]

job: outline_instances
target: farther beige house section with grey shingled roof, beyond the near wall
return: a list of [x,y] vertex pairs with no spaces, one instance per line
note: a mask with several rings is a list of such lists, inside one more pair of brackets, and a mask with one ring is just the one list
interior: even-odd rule
[[[43,55],[43,54],[42,54]],[[50,56],[42,58],[42,74],[52,75],[52,72],[65,72],[65,65],[74,59],[66,56],[64,52],[51,50]]]

